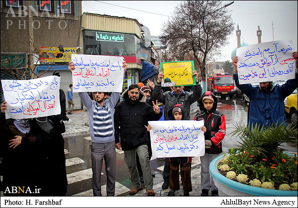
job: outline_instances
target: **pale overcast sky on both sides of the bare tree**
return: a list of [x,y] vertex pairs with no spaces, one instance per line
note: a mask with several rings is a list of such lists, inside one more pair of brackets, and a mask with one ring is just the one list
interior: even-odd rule
[[[106,3],[110,4],[106,4]],[[82,12],[107,14],[113,16],[124,16],[137,19],[140,23],[149,28],[151,36],[160,34],[163,23],[167,21],[174,11],[174,7],[181,1],[177,0],[102,0],[102,1],[82,1]],[[223,5],[231,2],[224,0]],[[115,6],[115,5],[123,6]],[[128,7],[128,8],[124,8]],[[132,10],[138,9],[143,11]],[[297,23],[297,0],[235,0],[233,4],[227,6],[230,11],[235,28],[237,24],[241,30],[241,43],[258,43],[258,26],[262,30],[262,42],[274,40],[293,40],[295,51],[297,51],[298,23]],[[148,13],[148,12],[152,13]],[[157,14],[162,15],[157,15]],[[273,32],[272,32],[273,21]],[[229,36],[229,44],[222,48],[222,57],[214,57],[216,61],[231,61],[231,52],[237,47],[236,32]]]

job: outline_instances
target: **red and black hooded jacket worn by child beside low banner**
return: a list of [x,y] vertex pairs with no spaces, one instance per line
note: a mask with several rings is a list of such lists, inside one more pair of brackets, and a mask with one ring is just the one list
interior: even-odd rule
[[[214,99],[213,108],[211,110],[206,110],[202,99],[205,96],[211,95]],[[217,110],[217,98],[215,95],[206,91],[199,100],[200,112],[195,115],[194,120],[204,120],[204,125],[207,131],[204,133],[205,140],[211,140],[211,148],[205,149],[205,152],[212,154],[219,154],[223,152],[222,141],[225,136],[225,117],[224,113]]]

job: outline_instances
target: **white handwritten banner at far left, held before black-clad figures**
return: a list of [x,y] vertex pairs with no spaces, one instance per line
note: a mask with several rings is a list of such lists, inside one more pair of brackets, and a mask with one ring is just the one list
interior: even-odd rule
[[61,113],[60,77],[48,76],[33,80],[1,80],[5,117],[34,118]]

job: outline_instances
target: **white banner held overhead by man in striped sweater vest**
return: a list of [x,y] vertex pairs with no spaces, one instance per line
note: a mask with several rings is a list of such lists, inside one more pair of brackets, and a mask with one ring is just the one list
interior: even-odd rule
[[123,57],[72,54],[73,91],[122,93]]

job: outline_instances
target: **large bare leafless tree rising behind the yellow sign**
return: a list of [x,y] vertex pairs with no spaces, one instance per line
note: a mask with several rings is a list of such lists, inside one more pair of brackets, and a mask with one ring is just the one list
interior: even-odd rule
[[[202,80],[206,79],[206,59],[217,55],[227,44],[234,23],[222,1],[187,0],[175,7],[172,19],[162,29],[160,39],[167,54],[193,54]],[[183,56],[171,56],[182,58]],[[182,60],[177,60],[182,61]]]

